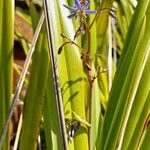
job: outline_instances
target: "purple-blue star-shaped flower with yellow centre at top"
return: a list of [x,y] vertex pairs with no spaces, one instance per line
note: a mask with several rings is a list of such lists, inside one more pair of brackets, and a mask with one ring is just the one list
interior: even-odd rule
[[96,10],[88,10],[88,8],[90,6],[89,1],[86,1],[84,5],[81,5],[79,0],[74,0],[74,3],[75,3],[74,7],[63,5],[64,7],[66,7],[70,11],[72,11],[72,14],[67,16],[69,19],[71,19],[73,17],[77,17],[77,16],[85,17],[86,14],[95,14],[97,12]]

